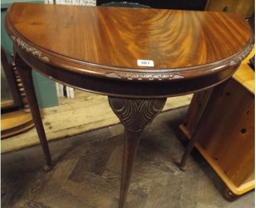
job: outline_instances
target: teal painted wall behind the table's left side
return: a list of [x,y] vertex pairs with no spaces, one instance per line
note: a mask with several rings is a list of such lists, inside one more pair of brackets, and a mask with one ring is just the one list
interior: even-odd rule
[[[26,0],[2,0],[1,1],[1,45],[7,52],[9,62],[11,62],[10,54],[13,53],[13,41],[9,38],[4,28],[4,14],[3,9],[8,8],[13,2],[28,2]],[[31,2],[31,1],[30,1]],[[43,3],[43,1],[33,1],[33,3]],[[34,87],[37,94],[39,106],[42,108],[57,106],[57,93],[55,82],[40,75],[33,70]]]

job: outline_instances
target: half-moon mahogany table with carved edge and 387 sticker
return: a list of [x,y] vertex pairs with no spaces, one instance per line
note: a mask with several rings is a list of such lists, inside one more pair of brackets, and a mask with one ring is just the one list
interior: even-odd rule
[[14,3],[5,27],[14,41],[15,64],[44,151],[45,170],[51,169],[51,156],[32,69],[108,96],[125,126],[120,208],[125,207],[141,133],[161,112],[166,97],[218,85],[212,90],[214,99],[220,83],[234,74],[254,43],[242,16],[202,11]]

